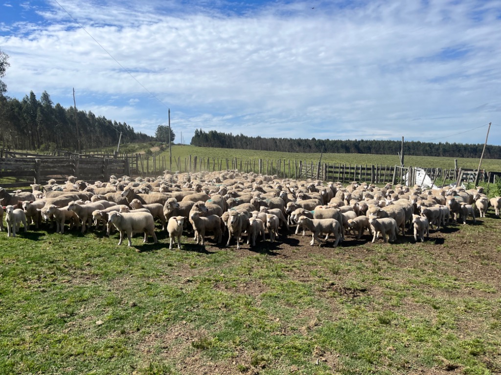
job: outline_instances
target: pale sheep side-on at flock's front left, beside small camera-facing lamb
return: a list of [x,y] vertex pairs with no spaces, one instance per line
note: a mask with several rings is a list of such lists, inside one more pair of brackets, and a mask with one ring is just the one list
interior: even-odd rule
[[155,235],[155,221],[153,219],[153,215],[149,212],[120,213],[113,211],[109,213],[108,221],[112,222],[120,232],[118,245],[122,244],[124,233],[126,233],[127,239],[129,240],[128,246],[131,247],[132,234],[139,232],[144,232],[144,243],[148,241],[148,234],[153,237],[153,243],[157,243]]

